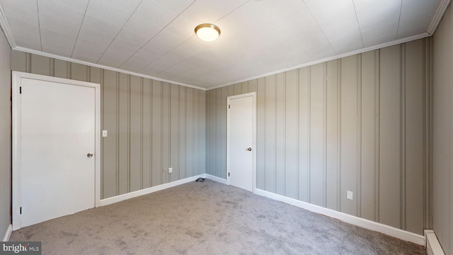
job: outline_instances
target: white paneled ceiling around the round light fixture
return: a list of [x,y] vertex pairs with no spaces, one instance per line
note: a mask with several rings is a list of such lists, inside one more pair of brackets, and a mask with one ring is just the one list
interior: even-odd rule
[[0,0],[0,23],[16,50],[211,89],[432,35],[449,1]]

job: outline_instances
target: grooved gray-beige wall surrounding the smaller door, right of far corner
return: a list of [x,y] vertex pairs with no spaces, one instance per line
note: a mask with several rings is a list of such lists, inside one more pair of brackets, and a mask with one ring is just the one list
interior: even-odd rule
[[256,91],[257,188],[423,234],[431,43],[207,91],[207,174],[226,178],[226,97]]

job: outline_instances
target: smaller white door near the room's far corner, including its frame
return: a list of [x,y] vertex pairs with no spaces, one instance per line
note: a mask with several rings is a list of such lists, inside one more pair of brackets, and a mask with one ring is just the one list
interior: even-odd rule
[[255,158],[255,94],[228,97],[229,184],[253,191]]

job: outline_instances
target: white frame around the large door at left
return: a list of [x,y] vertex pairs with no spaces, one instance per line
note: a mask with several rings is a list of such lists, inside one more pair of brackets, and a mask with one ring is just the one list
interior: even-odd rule
[[[12,222],[13,230],[21,228],[21,94],[22,79],[50,81],[72,86],[86,86],[95,91],[95,142],[94,142],[94,205],[98,207],[101,201],[101,84],[86,81],[76,81],[58,77],[48,77],[40,74],[12,72]],[[96,157],[97,156],[97,157]]]

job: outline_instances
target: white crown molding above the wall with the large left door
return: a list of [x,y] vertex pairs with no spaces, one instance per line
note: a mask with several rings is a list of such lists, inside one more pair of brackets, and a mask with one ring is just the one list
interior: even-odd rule
[[152,76],[146,75],[146,74],[139,74],[137,72],[126,71],[125,69],[119,69],[119,68],[115,68],[115,67],[108,67],[108,66],[105,66],[103,64],[95,64],[95,63],[91,63],[91,62],[86,62],[84,60],[76,60],[76,59],[73,59],[71,57],[63,57],[63,56],[55,55],[55,54],[52,54],[52,53],[42,52],[40,50],[28,49],[26,47],[17,46],[17,47],[13,47],[13,50],[18,50],[18,51],[21,51],[21,52],[33,53],[35,55],[40,55],[40,56],[44,56],[44,57],[52,57],[52,58],[55,58],[56,60],[64,60],[64,61],[74,62],[74,63],[77,63],[77,64],[85,64],[85,65],[90,66],[90,67],[98,67],[98,68],[105,69],[105,70],[110,70],[110,71],[113,71],[113,72],[120,72],[120,73],[123,73],[123,74],[131,74],[131,75],[134,75],[134,76],[137,76],[137,77],[143,77],[143,78],[147,78],[147,79],[154,79],[155,81],[168,82],[169,84],[176,84],[176,85],[180,85],[180,86],[186,86],[186,87],[193,88],[193,89],[200,89],[202,91],[206,90],[205,88],[202,88],[202,87],[199,87],[199,86],[193,86],[193,85],[190,85],[190,84],[184,84],[184,83],[178,82],[178,81],[170,81],[170,80],[162,79],[162,78],[159,78],[159,77],[152,77]]

